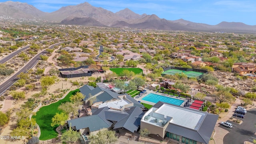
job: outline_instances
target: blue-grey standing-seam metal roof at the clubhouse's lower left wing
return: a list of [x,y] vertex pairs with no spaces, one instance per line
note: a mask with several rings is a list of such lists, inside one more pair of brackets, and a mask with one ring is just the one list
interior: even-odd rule
[[75,118],[72,120],[68,120],[68,125],[75,126],[76,130],[80,130],[83,128],[89,128],[91,132],[94,132],[96,130],[100,130],[103,128],[109,128],[110,126],[100,118],[98,115],[92,115],[92,116],[84,116],[80,118]]

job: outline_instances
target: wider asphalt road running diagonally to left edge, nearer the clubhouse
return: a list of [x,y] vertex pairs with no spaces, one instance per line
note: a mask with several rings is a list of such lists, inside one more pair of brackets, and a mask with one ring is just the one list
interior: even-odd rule
[[[56,45],[59,45],[61,43],[64,42],[59,42],[56,44],[53,44],[52,46],[50,46],[49,48],[53,48]],[[29,46],[28,46],[29,47]],[[24,47],[25,48],[25,47]],[[37,54],[34,58],[32,58],[21,70],[19,70],[16,74],[12,75],[9,80],[7,80],[6,82],[2,83],[0,85],[0,96],[8,89],[10,88],[10,86],[12,86],[12,84],[14,84],[14,82],[16,82],[18,80],[17,76],[21,73],[24,72],[26,73],[27,70],[29,70],[30,68],[33,68],[37,62],[40,60],[40,55],[44,55],[46,54],[46,50],[43,50],[42,52],[40,52],[39,54]]]

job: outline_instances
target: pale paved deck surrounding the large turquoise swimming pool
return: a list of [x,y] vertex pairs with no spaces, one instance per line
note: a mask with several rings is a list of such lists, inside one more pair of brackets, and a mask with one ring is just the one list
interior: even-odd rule
[[[146,90],[147,94],[142,94],[142,96],[140,96],[139,98],[135,98],[136,96],[134,96],[134,99],[137,100],[137,101],[140,101],[142,103],[145,103],[145,104],[150,104],[150,105],[154,105],[156,103],[154,102],[149,102],[149,101],[146,101],[146,100],[142,100],[142,98],[144,98],[145,96],[147,96],[148,94],[150,93],[153,93],[153,94],[158,94],[160,96],[166,96],[168,98],[174,98],[174,99],[178,99],[178,100],[184,100],[184,102],[180,105],[180,106],[184,106],[184,104],[186,104],[187,102],[187,99],[186,98],[176,98],[176,96],[173,96],[173,95],[170,95],[170,94],[166,94],[166,95],[162,95],[163,93],[160,93],[160,92],[154,92],[153,90],[148,90],[148,89],[144,89]],[[137,95],[138,96],[138,95]]]

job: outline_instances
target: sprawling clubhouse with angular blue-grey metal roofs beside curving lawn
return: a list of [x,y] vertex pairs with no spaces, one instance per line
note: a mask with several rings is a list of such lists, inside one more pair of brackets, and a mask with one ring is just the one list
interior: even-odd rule
[[128,94],[88,85],[82,86],[80,91],[86,96],[84,102],[88,101],[90,95],[96,99],[91,106],[91,116],[68,120],[73,130],[79,130],[82,134],[96,134],[101,129],[112,127],[114,130],[122,128],[134,133],[140,127],[144,106]]

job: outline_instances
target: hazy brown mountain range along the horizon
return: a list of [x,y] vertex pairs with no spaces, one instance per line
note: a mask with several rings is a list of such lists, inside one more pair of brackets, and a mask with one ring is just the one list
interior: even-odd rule
[[51,13],[42,12],[32,5],[21,2],[0,2],[0,15],[13,18],[42,18],[59,24],[84,26],[108,26],[118,28],[140,28],[153,30],[224,31],[256,33],[256,25],[241,22],[221,22],[217,25],[190,22],[187,20],[166,20],[155,14],[136,14],[125,8],[113,13],[88,2],[76,6],[65,6]]

